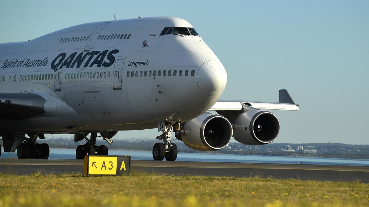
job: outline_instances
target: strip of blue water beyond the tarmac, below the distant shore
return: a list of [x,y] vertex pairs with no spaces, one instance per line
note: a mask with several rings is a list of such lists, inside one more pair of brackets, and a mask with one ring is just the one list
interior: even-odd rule
[[[109,150],[110,155],[129,155],[132,159],[152,160],[151,151]],[[15,152],[2,152],[0,158],[17,158]],[[76,150],[50,149],[49,159],[76,159]],[[279,164],[315,164],[315,165],[358,165],[369,166],[368,159],[341,159],[316,157],[280,157],[259,155],[226,155],[202,153],[178,153],[177,161],[203,161],[203,162],[253,162],[253,163],[279,163]],[[1,160],[0,160],[1,162]]]

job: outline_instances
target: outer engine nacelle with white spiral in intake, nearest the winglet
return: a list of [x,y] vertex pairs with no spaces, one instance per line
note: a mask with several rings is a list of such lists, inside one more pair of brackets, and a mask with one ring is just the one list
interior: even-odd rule
[[251,110],[239,114],[233,122],[233,137],[242,144],[261,145],[274,141],[279,134],[279,121],[268,111]]

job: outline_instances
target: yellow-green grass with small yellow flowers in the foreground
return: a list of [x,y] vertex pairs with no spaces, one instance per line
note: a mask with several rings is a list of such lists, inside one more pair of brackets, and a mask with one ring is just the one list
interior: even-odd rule
[[0,206],[369,206],[369,184],[274,178],[1,175]]

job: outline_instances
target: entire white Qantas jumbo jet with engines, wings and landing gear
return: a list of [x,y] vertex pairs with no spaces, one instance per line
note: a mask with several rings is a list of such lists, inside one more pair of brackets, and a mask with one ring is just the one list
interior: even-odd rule
[[174,161],[172,132],[201,151],[220,150],[232,137],[268,144],[279,121],[261,109],[299,110],[286,90],[277,103],[218,101],[227,84],[222,63],[175,17],[92,22],[1,43],[0,67],[0,136],[18,158],[48,158],[49,146],[37,144],[44,134],[86,140],[76,149],[82,159],[108,154],[95,145],[98,134],[111,144],[120,130],[157,128],[153,158]]

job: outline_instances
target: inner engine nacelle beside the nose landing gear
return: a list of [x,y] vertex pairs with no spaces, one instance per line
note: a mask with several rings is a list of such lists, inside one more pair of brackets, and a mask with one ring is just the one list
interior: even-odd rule
[[224,116],[204,113],[182,124],[176,138],[194,150],[214,151],[226,147],[232,139],[231,123]]

